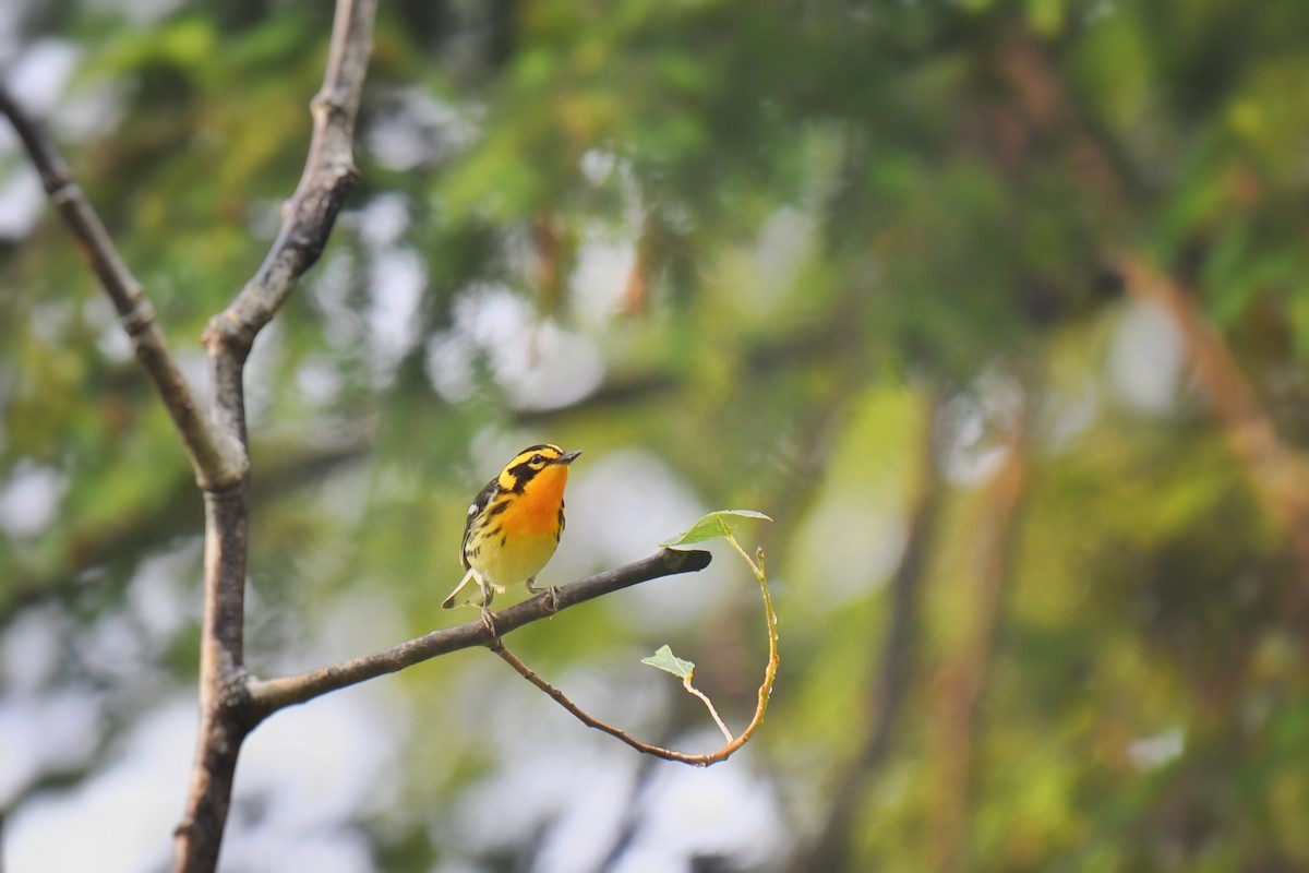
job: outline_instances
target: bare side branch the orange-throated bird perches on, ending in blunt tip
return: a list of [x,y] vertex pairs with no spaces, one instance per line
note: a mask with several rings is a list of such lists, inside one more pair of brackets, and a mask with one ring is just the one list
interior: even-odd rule
[[[564,585],[554,592],[495,613],[499,633],[508,633],[524,624],[550,618],[569,606],[577,606],[603,594],[630,588],[661,576],[692,573],[709,565],[707,551],[677,551],[664,548],[649,558],[607,569],[584,580]],[[387,673],[414,666],[439,654],[446,654],[474,645],[493,647],[496,637],[480,620],[432,631],[424,636],[393,645],[389,649],[319,668],[280,679],[251,679],[247,685],[251,704],[259,719],[297,703],[305,703],[331,691],[357,685]]]

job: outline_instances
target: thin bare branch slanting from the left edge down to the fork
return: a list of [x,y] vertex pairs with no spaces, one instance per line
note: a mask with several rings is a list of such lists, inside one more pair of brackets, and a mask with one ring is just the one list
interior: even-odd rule
[[202,488],[223,490],[240,482],[249,461],[245,449],[213,428],[196,402],[190,383],[182,376],[164,332],[154,321],[154,308],[141,283],[127,270],[114,247],[105,224],[90,205],[72,171],[46,131],[27,115],[9,90],[0,82],[0,113],[9,116],[18,139],[64,223],[77,242],[101,285],[118,310],[123,330],[132,340],[136,357],[154,382],[173,423],[177,425]]

